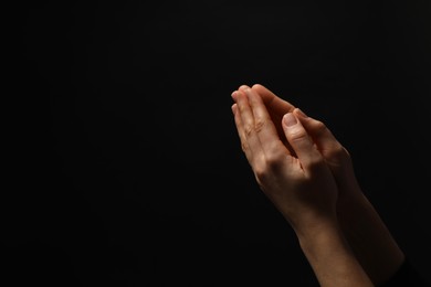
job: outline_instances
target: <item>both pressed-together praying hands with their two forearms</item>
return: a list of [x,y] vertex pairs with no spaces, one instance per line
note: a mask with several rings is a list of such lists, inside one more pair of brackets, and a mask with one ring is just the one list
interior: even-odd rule
[[255,179],[295,231],[319,284],[375,286],[389,279],[403,253],[330,130],[262,85],[241,86],[232,97]]

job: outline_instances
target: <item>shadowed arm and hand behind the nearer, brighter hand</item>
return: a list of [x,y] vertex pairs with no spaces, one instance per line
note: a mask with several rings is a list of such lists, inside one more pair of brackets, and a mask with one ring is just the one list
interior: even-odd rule
[[262,97],[272,118],[287,111],[293,111],[298,117],[337,182],[337,214],[346,240],[374,284],[387,281],[401,266],[404,255],[361,192],[348,151],[322,121],[305,116],[262,85],[254,85],[253,89]]

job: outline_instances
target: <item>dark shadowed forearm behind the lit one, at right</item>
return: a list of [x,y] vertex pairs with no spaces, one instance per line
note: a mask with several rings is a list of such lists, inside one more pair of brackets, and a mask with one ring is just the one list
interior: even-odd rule
[[368,199],[356,192],[339,204],[343,233],[375,285],[393,276],[404,255]]

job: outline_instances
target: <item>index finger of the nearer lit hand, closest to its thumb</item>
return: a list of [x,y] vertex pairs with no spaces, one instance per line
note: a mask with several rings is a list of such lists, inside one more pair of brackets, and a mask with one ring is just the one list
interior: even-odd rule
[[[254,117],[254,129],[264,153],[271,153],[280,148],[285,149],[281,142],[274,123],[271,120],[262,98],[251,88],[244,89]],[[287,151],[287,150],[286,150]]]

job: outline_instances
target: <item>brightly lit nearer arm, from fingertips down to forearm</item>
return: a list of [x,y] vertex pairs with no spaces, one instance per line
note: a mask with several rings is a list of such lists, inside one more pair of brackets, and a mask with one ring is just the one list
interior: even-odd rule
[[255,179],[295,231],[320,286],[372,286],[340,232],[336,182],[301,121],[292,113],[283,117],[287,149],[257,93],[246,88],[232,96]]

